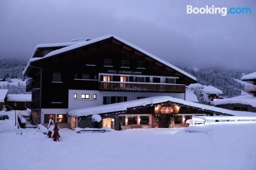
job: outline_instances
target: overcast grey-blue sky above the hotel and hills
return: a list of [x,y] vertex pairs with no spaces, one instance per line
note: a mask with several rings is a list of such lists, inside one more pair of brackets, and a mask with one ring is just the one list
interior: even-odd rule
[[[36,44],[119,36],[174,65],[256,70],[256,2],[0,1],[0,58],[28,60]],[[186,5],[251,14],[186,14]]]

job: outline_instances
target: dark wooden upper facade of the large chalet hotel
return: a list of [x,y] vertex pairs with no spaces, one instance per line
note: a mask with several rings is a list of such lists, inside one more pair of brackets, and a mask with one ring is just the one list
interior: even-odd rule
[[[60,76],[58,81],[54,80],[54,74]],[[176,81],[173,84],[138,83],[135,79],[125,83],[102,82],[103,74],[174,77]],[[185,85],[196,82],[113,37],[35,60],[25,76],[32,78],[26,87],[32,92],[32,102],[27,102],[26,107],[35,112],[33,119],[37,124],[42,108],[68,109],[69,89],[184,93]]]

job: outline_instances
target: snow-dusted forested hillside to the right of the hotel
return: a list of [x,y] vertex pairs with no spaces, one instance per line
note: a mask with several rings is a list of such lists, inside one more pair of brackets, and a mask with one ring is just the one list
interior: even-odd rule
[[198,83],[202,85],[208,84],[222,90],[226,98],[238,96],[241,94],[241,90],[244,90],[244,85],[234,81],[233,78],[240,79],[243,74],[250,73],[250,71],[238,71],[221,68],[183,69],[189,74],[195,76]]

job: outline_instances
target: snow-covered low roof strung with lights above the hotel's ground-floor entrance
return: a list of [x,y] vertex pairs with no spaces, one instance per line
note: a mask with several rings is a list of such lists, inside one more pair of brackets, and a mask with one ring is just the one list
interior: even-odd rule
[[[209,105],[203,105],[200,103],[188,102],[188,101],[184,101],[184,100],[178,99],[178,98],[173,98],[170,96],[154,96],[154,97],[150,97],[150,98],[132,100],[132,101],[109,104],[109,105],[87,107],[87,108],[82,108],[82,109],[73,109],[73,110],[70,110],[68,114],[70,116],[74,116],[74,117],[90,116],[93,114],[125,111],[129,108],[134,108],[134,107],[138,107],[138,106],[146,106],[146,105],[151,105],[151,104],[159,104],[159,103],[165,103],[165,102],[171,102],[171,103],[175,103],[175,104],[179,104],[179,105],[185,105],[185,106],[189,106],[189,107],[193,107],[193,108],[198,108],[198,109],[209,111],[209,112],[212,111],[212,112],[218,112],[218,113],[229,114],[229,115],[251,113],[251,112],[243,112],[243,111],[233,111],[233,110],[223,109],[223,108],[219,108],[219,107],[215,107],[215,106],[209,106]],[[256,113],[254,113],[254,114],[256,114]]]

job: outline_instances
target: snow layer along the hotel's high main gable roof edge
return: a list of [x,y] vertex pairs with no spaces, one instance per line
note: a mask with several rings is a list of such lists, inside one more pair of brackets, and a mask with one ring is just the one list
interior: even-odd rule
[[[41,57],[39,60],[46,59],[48,57],[55,56],[55,55],[58,55],[58,54],[61,54],[61,53],[64,53],[64,52],[68,52],[68,51],[74,50],[76,48],[79,48],[79,47],[82,47],[82,46],[86,46],[86,45],[89,45],[89,44],[92,44],[92,43],[95,43],[95,42],[98,42],[98,41],[102,41],[102,40],[105,40],[105,39],[108,39],[108,38],[111,38],[111,37],[115,38],[118,41],[121,41],[121,42],[125,43],[126,45],[129,45],[129,46],[133,47],[134,49],[138,50],[139,52],[141,52],[141,53],[143,53],[143,54],[145,54],[145,55],[147,55],[147,56],[149,56],[149,57],[159,61],[160,63],[162,63],[164,65],[167,65],[170,68],[175,69],[176,71],[178,71],[181,74],[189,77],[190,79],[193,79],[195,81],[197,80],[194,76],[191,76],[190,74],[188,74],[187,72],[183,71],[182,69],[180,69],[180,68],[178,68],[178,67],[176,67],[176,66],[174,66],[174,65],[172,65],[172,64],[170,64],[170,63],[168,63],[168,62],[166,62],[166,61],[164,61],[164,60],[162,60],[162,59],[160,59],[160,58],[158,58],[156,56],[154,56],[153,54],[150,54],[150,53],[142,50],[140,47],[138,47],[138,46],[136,46],[136,45],[134,45],[134,44],[132,44],[132,43],[130,43],[128,41],[125,41],[122,38],[114,36],[114,35],[105,35],[105,36],[102,36],[102,37],[99,37],[99,38],[95,38],[95,39],[92,39],[92,40],[89,40],[89,41],[83,41],[83,42],[79,42],[79,43],[74,44],[74,45],[66,46],[66,47],[63,47],[63,48],[60,48],[58,50],[55,50],[55,51],[52,51],[52,52],[48,53],[46,56]],[[26,72],[26,70],[27,69],[25,68],[25,70],[23,71],[23,74]]]

